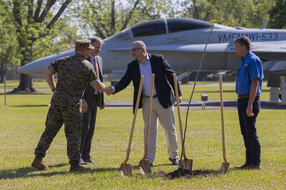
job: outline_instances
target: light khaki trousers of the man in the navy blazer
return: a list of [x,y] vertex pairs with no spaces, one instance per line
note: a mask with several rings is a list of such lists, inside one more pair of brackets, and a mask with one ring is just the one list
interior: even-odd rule
[[[149,110],[149,97],[143,96],[142,98],[142,115],[144,120],[144,145],[146,139],[146,129],[148,120]],[[150,164],[154,164],[156,155],[157,145],[157,131],[158,131],[158,120],[165,132],[167,141],[168,155],[171,159],[178,158],[178,139],[176,133],[176,121],[174,115],[174,105],[164,109],[158,97],[152,99],[151,119],[150,119],[150,130],[146,160],[149,160]]]

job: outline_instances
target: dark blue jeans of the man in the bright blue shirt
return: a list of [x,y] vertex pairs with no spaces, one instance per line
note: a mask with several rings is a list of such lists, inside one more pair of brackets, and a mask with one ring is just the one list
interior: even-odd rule
[[243,135],[244,145],[246,148],[246,164],[260,165],[261,148],[255,127],[256,118],[260,111],[260,98],[255,98],[252,103],[252,112],[254,116],[249,117],[246,114],[249,98],[237,99],[237,110],[241,134]]

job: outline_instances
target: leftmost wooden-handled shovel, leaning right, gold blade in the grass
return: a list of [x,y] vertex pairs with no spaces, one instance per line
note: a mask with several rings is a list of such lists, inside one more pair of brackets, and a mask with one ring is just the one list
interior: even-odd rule
[[126,159],[123,163],[119,164],[121,175],[123,177],[125,177],[125,175],[127,175],[127,176],[132,175],[131,164],[127,164],[127,161],[129,159],[129,153],[130,153],[130,148],[131,148],[131,143],[132,143],[132,137],[133,137],[134,127],[135,127],[135,122],[136,122],[136,116],[137,116],[137,111],[138,111],[138,106],[139,106],[139,101],[140,101],[140,96],[141,96],[143,80],[144,80],[144,76],[141,76],[140,86],[139,86],[139,91],[138,91],[138,96],[137,96],[137,102],[136,102],[136,107],[135,107],[133,122],[132,122],[132,127],[131,127],[131,133],[130,133],[130,138],[129,138],[129,144],[128,144],[128,149],[127,149],[127,154],[126,154]]

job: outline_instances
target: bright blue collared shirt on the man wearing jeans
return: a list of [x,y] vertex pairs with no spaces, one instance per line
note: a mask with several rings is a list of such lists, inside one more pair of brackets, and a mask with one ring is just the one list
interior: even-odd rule
[[249,51],[245,57],[241,57],[241,64],[237,70],[237,81],[235,91],[238,95],[250,93],[251,81],[255,77],[259,78],[256,96],[260,96],[262,89],[262,79],[264,78],[262,63],[259,57]]

